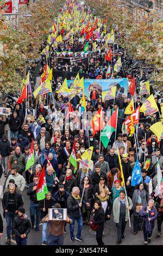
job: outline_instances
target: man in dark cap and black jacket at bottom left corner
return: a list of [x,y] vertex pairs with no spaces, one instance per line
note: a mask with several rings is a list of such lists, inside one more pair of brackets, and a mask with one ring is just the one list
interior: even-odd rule
[[14,218],[13,228],[17,245],[27,245],[27,235],[32,229],[32,224],[25,214],[25,209],[20,207],[17,209],[18,216]]

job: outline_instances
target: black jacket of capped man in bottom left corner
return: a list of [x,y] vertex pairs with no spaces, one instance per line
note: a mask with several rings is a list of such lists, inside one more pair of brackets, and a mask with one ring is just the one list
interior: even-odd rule
[[24,215],[24,218],[16,216],[14,218],[13,228],[16,236],[21,237],[21,235],[26,234],[27,237],[30,230],[32,229],[32,224],[27,215]]

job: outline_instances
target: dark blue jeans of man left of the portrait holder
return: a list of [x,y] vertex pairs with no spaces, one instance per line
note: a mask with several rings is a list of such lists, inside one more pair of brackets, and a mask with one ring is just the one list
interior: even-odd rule
[[32,226],[34,227],[34,224],[35,224],[35,213],[36,213],[36,227],[39,227],[40,215],[41,215],[39,204],[34,204],[30,202],[29,210],[30,210],[30,220],[31,220]]

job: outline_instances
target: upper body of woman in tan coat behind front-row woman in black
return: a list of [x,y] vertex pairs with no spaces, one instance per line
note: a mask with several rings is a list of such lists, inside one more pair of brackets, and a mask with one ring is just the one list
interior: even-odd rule
[[105,190],[107,195],[111,194],[111,187],[106,182],[106,177],[104,175],[101,175],[99,178],[99,183],[95,185],[93,190],[93,195],[98,196],[100,194],[101,190]]

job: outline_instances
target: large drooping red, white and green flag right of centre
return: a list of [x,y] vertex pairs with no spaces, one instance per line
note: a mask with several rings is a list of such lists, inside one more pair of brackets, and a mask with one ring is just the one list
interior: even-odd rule
[[117,113],[118,113],[118,108],[111,115],[111,118],[109,119],[108,124],[106,124],[106,126],[104,127],[104,130],[101,133],[101,142],[103,143],[105,149],[108,147],[108,143],[110,141],[112,132],[116,131]]

